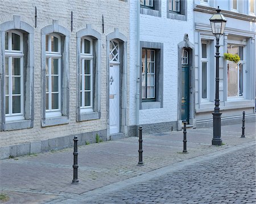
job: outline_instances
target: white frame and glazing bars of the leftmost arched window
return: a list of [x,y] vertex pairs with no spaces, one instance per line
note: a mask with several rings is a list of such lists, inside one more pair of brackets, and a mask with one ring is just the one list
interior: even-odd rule
[[[9,67],[9,113],[5,114],[5,120],[7,121],[17,121],[24,120],[24,75],[23,75],[23,33],[16,30],[9,30],[8,32],[8,49],[5,50],[5,58],[8,60]],[[12,49],[12,33],[20,36],[20,50]],[[20,113],[12,113],[13,112],[13,75],[12,75],[12,59],[20,58]],[[5,75],[6,77],[7,75]],[[6,97],[6,95],[5,95]]]

